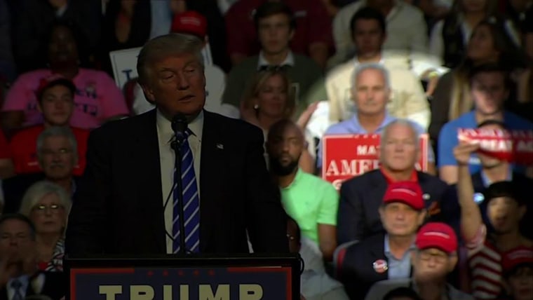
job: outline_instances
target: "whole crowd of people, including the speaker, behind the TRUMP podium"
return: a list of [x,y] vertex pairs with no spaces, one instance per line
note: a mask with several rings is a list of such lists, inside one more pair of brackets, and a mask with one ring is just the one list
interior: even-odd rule
[[[532,71],[532,0],[0,0],[0,299],[180,252],[184,151],[187,251],[298,252],[307,300],[533,300]],[[379,146],[336,186],[339,135]]]

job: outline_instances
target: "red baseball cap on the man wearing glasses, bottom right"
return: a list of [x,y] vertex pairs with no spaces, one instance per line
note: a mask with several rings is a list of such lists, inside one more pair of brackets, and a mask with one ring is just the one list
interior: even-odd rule
[[449,225],[429,222],[419,229],[415,245],[420,250],[437,248],[451,254],[457,251],[457,235]]

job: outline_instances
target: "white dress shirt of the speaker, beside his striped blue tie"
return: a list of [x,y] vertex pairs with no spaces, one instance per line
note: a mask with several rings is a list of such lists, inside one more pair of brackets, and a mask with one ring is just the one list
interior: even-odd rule
[[[156,116],[157,123],[157,138],[159,141],[159,158],[161,164],[161,191],[163,192],[163,205],[165,217],[166,230],[166,250],[168,254],[172,253],[173,240],[172,223],[173,223],[173,193],[171,191],[174,184],[174,163],[175,154],[170,147],[170,140],[174,137],[172,125],[170,121],[165,118],[159,110]],[[189,129],[193,132],[189,135],[187,141],[191,147],[192,157],[194,159],[194,174],[196,175],[196,186],[198,187],[198,198],[201,198],[200,193],[200,158],[201,158],[201,142],[203,130],[203,111],[189,123]],[[170,195],[170,197],[169,197]],[[168,198],[168,203],[167,203]],[[170,236],[169,236],[170,235]]]

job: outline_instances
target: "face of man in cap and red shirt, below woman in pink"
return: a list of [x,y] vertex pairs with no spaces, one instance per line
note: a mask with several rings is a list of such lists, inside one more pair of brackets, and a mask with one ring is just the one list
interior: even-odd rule
[[44,91],[39,108],[48,125],[68,125],[74,109],[74,95],[66,86],[53,86]]

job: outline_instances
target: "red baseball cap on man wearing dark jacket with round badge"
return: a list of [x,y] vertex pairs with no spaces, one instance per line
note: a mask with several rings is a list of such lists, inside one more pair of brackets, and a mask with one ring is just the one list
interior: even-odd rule
[[422,189],[417,182],[391,182],[385,191],[383,203],[401,202],[414,210],[423,210]]

